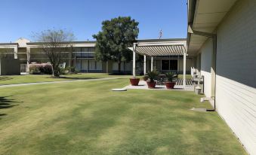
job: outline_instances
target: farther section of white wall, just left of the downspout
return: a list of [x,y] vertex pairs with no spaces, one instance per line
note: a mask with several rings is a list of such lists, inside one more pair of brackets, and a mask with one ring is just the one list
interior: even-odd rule
[[211,53],[212,39],[208,39],[202,46],[201,52],[201,76],[204,76],[204,93],[206,97],[211,97]]

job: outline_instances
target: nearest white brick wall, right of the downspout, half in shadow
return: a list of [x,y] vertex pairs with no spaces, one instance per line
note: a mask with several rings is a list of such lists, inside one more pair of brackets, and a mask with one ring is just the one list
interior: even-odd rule
[[217,28],[216,106],[256,154],[256,1],[239,0]]

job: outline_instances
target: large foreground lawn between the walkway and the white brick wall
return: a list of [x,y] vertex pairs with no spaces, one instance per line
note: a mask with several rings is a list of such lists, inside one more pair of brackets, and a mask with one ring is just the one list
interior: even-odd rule
[[128,79],[1,88],[1,154],[245,154],[193,92],[128,90]]

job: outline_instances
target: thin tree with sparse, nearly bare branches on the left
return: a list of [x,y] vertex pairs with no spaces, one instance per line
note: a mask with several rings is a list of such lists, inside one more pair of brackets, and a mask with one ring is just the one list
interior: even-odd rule
[[36,41],[42,44],[42,50],[52,65],[54,77],[60,77],[59,65],[72,51],[72,32],[63,29],[48,29],[35,34]]

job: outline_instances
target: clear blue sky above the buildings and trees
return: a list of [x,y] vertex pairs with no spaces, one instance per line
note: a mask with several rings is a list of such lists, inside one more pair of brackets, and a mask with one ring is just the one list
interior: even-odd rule
[[0,42],[33,32],[67,29],[77,41],[93,40],[101,22],[131,16],[139,24],[139,39],[187,37],[187,0],[1,0]]

